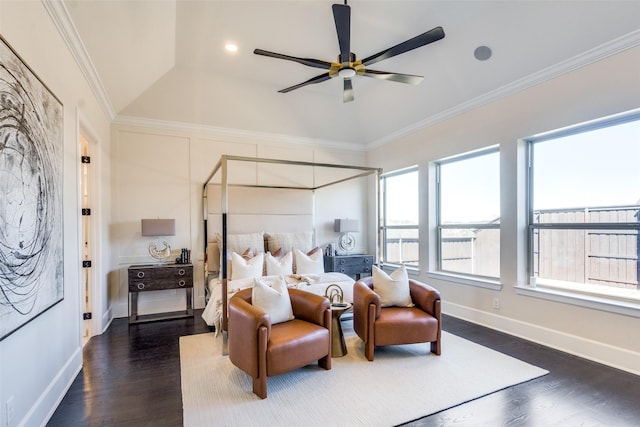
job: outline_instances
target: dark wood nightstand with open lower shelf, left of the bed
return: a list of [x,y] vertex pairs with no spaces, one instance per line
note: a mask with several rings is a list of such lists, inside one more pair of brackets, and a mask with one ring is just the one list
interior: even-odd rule
[[[129,323],[193,317],[193,264],[147,264],[132,265],[128,271]],[[185,289],[187,307],[183,311],[154,313],[138,316],[140,292]]]

